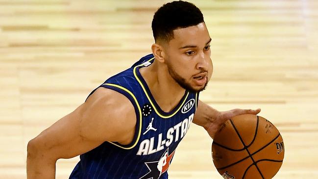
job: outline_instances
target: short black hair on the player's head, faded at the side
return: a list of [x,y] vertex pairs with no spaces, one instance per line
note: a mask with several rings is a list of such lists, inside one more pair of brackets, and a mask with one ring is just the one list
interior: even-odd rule
[[173,30],[203,23],[203,14],[193,3],[172,1],[161,6],[154,14],[151,28],[155,42],[173,39]]

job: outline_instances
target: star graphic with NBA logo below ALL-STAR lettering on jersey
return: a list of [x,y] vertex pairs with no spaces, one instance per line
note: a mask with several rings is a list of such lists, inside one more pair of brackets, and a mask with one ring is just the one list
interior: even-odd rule
[[145,162],[147,168],[150,170],[146,175],[140,179],[159,179],[159,177],[167,172],[174,151],[169,155],[169,148],[163,153],[158,161]]

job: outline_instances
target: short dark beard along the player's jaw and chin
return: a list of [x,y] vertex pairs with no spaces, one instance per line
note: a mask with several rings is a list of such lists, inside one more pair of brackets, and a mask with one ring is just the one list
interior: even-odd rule
[[[178,75],[174,70],[173,68],[171,67],[170,64],[167,64],[168,66],[168,72],[170,74],[170,76],[174,79],[175,82],[177,82],[182,88],[190,91],[190,92],[193,92],[193,93],[196,93],[196,92],[201,92],[203,90],[205,90],[207,84],[208,84],[208,79],[206,80],[204,86],[200,89],[195,89],[194,87],[191,86],[191,84],[189,82],[186,81],[186,79],[184,77],[181,77],[180,75]],[[204,71],[202,71],[204,72]],[[200,72],[200,73],[202,73]],[[206,77],[207,78],[207,77]]]

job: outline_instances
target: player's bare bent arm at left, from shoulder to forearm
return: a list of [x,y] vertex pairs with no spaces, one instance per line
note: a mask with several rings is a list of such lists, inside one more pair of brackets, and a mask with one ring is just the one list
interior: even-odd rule
[[104,141],[129,144],[134,135],[136,114],[122,94],[98,88],[86,102],[27,145],[27,178],[54,179],[59,158],[86,153]]

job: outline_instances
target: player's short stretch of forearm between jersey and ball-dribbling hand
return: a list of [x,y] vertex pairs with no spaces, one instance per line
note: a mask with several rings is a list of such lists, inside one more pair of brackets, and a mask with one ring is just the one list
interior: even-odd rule
[[213,122],[214,119],[216,119],[219,114],[220,114],[220,111],[214,109],[213,107],[209,106],[208,104],[204,102],[199,101],[193,122],[196,125],[199,125],[205,128],[206,125],[208,123]]

